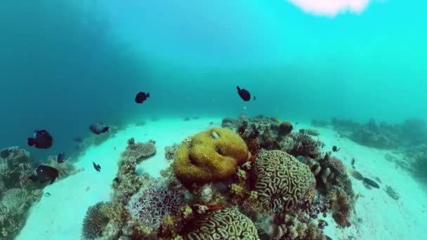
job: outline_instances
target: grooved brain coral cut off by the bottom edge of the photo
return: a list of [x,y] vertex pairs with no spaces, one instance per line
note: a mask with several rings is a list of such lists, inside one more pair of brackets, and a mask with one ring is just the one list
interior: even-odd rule
[[254,222],[230,208],[197,216],[186,226],[185,239],[259,239]]

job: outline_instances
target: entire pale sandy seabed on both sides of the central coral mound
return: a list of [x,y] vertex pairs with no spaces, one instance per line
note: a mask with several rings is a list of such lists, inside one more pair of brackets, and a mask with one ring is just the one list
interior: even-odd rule
[[[209,122],[219,126],[221,119],[198,119],[182,121],[180,119],[160,119],[147,122],[146,126],[129,126],[126,130],[104,142],[98,147],[88,149],[81,156],[77,167],[85,171],[72,175],[65,180],[55,182],[44,189],[51,196],[43,196],[30,210],[25,227],[17,239],[80,239],[81,224],[89,206],[98,201],[108,201],[112,194],[111,182],[117,173],[117,161],[126,147],[126,141],[134,137],[137,142],[155,140],[157,154],[138,166],[138,173],[149,173],[159,177],[159,171],[169,166],[164,159],[164,147],[178,143],[188,135],[209,128]],[[298,128],[307,127],[299,124]],[[381,189],[367,189],[362,182],[352,178],[353,189],[363,197],[358,199],[356,214],[350,218],[352,227],[341,229],[334,220],[326,218],[329,226],[325,234],[332,239],[426,239],[426,199],[427,194],[407,173],[395,168],[386,161],[386,151],[363,147],[345,138],[339,138],[328,128],[319,128],[320,140],[331,149],[333,145],[341,147],[335,154],[350,168],[350,160],[355,157],[355,166],[365,177],[379,177]],[[114,149],[114,147],[116,149]],[[102,166],[97,173],[92,161]],[[395,201],[384,191],[390,185],[400,194]],[[86,189],[88,191],[86,191]],[[362,222],[358,223],[357,218]]]

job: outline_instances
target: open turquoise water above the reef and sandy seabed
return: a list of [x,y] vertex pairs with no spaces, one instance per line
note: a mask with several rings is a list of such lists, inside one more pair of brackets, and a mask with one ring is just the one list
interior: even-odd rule
[[[319,0],[320,2],[320,0]],[[422,1],[360,13],[284,0],[0,3],[0,148],[43,161],[94,121],[264,114],[291,121],[427,120]],[[242,86],[256,96],[243,102]],[[150,92],[143,105],[138,91]],[[48,129],[54,147],[26,145]]]

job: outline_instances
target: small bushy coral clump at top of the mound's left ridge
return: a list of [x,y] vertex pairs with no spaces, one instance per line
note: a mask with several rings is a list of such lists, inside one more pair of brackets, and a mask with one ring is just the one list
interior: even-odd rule
[[137,159],[139,161],[155,153],[156,147],[153,141],[135,143],[135,139],[131,138],[128,140],[126,150],[121,153],[121,157],[123,159]]

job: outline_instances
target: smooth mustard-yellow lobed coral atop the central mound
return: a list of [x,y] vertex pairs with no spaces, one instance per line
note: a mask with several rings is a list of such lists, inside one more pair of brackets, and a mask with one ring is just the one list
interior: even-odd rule
[[247,161],[244,140],[228,128],[211,128],[183,142],[176,152],[173,171],[184,185],[227,180]]

